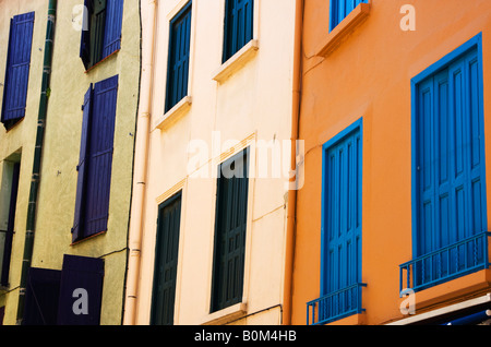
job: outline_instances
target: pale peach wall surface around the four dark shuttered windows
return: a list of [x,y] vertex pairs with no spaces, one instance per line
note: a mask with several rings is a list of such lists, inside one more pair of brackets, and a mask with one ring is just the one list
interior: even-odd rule
[[[188,93],[192,104],[172,123],[156,127],[168,117],[164,107],[169,21],[185,2],[159,1],[157,7],[136,324],[149,322],[157,207],[179,190],[182,212],[175,324],[230,322],[220,319],[237,313],[237,307],[209,314],[216,202],[216,179],[211,175],[231,155],[226,149],[233,147],[238,153],[244,146],[253,148],[261,140],[289,140],[291,132],[294,0],[255,1],[254,39],[259,49],[246,63],[233,68],[223,83],[214,77],[221,64],[225,1],[194,0]],[[219,137],[214,137],[217,134]],[[202,143],[204,148],[188,152],[192,143]],[[255,165],[258,151],[251,153]],[[196,160],[199,154],[205,155],[203,161]],[[287,158],[284,164],[288,168]],[[258,166],[251,170],[258,174]],[[249,181],[243,295],[247,312],[242,315],[250,315],[235,323],[280,323],[287,181],[284,176]]]

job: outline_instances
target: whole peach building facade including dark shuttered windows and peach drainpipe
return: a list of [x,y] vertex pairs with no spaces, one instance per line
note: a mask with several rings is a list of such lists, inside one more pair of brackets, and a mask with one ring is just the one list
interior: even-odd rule
[[124,324],[282,324],[297,14],[142,1]]

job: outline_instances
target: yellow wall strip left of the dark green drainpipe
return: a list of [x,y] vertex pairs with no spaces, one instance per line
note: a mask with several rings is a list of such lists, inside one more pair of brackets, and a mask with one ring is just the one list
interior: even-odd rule
[[[21,278],[22,255],[24,252],[25,224],[27,218],[27,201],[29,196],[31,174],[33,170],[34,141],[37,127],[37,112],[39,108],[39,93],[41,89],[43,58],[45,47],[45,35],[47,25],[48,1],[22,0],[22,1],[0,1],[0,98],[3,101],[3,82],[5,80],[7,52],[9,47],[10,20],[17,14],[35,12],[33,29],[33,44],[31,55],[29,80],[27,91],[27,104],[24,119],[5,131],[3,124],[0,125],[0,179],[1,196],[0,210],[5,211],[5,192],[10,189],[7,179],[9,160],[21,160],[21,174],[19,183],[19,195],[15,215],[15,234],[12,244],[11,266],[9,273],[9,287],[0,291],[0,307],[5,307],[3,324],[15,324],[19,286]],[[2,218],[7,223],[5,218]],[[3,229],[4,225],[0,226]]]

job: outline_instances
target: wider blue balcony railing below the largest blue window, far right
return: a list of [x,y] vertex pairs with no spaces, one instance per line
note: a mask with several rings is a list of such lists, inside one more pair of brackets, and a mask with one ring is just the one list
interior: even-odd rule
[[[399,265],[399,292],[420,290],[456,277],[488,268],[488,238],[491,232],[478,234],[438,251]],[[404,286],[406,283],[406,286]]]

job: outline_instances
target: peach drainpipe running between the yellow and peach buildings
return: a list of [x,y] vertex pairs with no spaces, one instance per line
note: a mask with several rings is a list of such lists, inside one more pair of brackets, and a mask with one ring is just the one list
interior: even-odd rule
[[[152,105],[152,75],[154,60],[154,36],[157,0],[143,2],[146,7],[148,23],[142,29],[142,82],[140,86],[140,106],[136,123],[135,163],[133,177],[133,199],[130,215],[127,295],[124,299],[124,325],[134,325],[136,320],[136,300],[140,277],[140,261],[143,229],[143,206],[146,191],[146,168]],[[142,23],[142,25],[143,25]],[[147,28],[145,29],[145,26]]]

